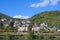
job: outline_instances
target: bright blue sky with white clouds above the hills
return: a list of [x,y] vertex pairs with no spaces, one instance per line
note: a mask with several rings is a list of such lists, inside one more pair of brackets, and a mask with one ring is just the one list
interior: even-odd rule
[[27,19],[35,14],[60,10],[60,0],[0,0],[0,13]]

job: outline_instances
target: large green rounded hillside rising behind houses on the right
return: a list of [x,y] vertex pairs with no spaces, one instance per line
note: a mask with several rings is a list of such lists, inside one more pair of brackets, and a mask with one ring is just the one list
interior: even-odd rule
[[51,26],[60,26],[60,11],[46,11],[30,18],[32,22],[45,22]]

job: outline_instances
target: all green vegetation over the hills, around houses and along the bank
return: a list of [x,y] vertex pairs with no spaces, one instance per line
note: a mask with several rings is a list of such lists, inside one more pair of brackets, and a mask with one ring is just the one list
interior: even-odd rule
[[[11,19],[11,17],[0,13],[0,18]],[[60,26],[60,11],[46,11],[35,16],[31,17],[31,23],[28,27],[28,34],[22,35],[20,32],[17,32],[17,27],[13,27],[14,21],[17,19],[13,19],[10,23],[10,26],[4,27],[3,23],[0,22],[0,40],[60,40],[60,34],[54,34],[55,28],[53,31],[45,29],[40,29],[40,33],[35,33],[32,31],[32,26],[35,22],[39,25],[42,22],[47,23],[49,26]],[[21,20],[18,19],[20,22]],[[45,32],[48,32],[44,34]],[[50,34],[49,34],[50,33]]]

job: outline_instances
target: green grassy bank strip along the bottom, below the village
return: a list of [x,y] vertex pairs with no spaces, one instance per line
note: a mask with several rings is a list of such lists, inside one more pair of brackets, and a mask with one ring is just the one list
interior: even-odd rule
[[60,40],[60,34],[55,33],[40,33],[37,35],[23,35],[20,33],[9,33],[9,32],[3,32],[0,33],[0,40]]

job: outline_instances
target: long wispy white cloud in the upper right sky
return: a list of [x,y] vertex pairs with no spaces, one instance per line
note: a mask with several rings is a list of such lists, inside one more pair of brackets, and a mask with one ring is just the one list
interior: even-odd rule
[[39,3],[33,3],[30,6],[31,7],[46,7],[48,5],[55,6],[58,3],[59,0],[43,0]]

